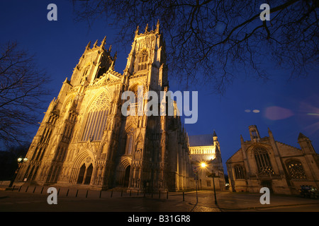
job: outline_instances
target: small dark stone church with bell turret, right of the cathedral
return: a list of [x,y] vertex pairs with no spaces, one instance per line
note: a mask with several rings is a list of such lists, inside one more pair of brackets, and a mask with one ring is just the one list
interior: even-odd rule
[[268,187],[274,194],[299,194],[301,185],[319,187],[319,155],[308,137],[299,133],[301,148],[261,137],[257,126],[249,126],[250,141],[240,136],[241,148],[227,162],[230,189],[259,193]]

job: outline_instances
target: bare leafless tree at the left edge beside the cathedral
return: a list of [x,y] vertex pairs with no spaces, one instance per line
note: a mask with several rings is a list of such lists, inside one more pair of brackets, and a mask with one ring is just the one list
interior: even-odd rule
[[45,85],[50,81],[38,69],[28,52],[16,42],[1,45],[0,51],[0,143],[23,145],[30,138],[28,126],[38,122],[44,97],[50,94]]

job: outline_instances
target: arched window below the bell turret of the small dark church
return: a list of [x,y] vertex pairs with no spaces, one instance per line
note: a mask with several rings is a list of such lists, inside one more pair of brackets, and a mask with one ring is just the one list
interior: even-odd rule
[[261,147],[257,147],[257,148],[254,148],[253,151],[254,151],[254,159],[256,160],[258,172],[274,174],[274,170],[272,169],[272,162],[270,161],[267,150]]

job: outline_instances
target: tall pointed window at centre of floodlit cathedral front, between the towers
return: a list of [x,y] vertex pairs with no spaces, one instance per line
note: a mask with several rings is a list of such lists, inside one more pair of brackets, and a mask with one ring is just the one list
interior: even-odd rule
[[82,141],[101,141],[108,117],[109,100],[103,92],[92,103],[86,115],[86,124],[82,133]]

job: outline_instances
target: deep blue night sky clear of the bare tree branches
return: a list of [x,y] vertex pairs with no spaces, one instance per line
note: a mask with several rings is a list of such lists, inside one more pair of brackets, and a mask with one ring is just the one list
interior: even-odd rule
[[[47,20],[47,5],[57,4],[57,21]],[[119,47],[113,44],[114,30],[103,21],[97,21],[88,29],[86,23],[74,23],[71,1],[1,1],[0,43],[17,41],[20,47],[36,55],[38,64],[52,77],[52,97],[57,97],[62,82],[72,76],[72,71],[82,56],[86,44],[101,40],[106,35],[106,47],[112,44],[113,52]],[[133,37],[133,34],[132,34]],[[119,52],[116,71],[123,73],[128,52]],[[272,81],[264,83],[251,75],[239,77],[228,87],[225,95],[212,95],[209,87],[198,90],[198,121],[186,124],[189,135],[213,133],[220,141],[223,163],[240,148],[240,134],[250,139],[248,126],[257,125],[260,135],[268,136],[268,128],[276,141],[300,148],[298,133],[302,132],[319,150],[319,78],[313,73],[307,78],[288,82],[284,71],[272,69]],[[181,90],[179,81],[169,76],[174,90]],[[259,112],[252,112],[257,109]],[[250,112],[248,111],[250,110]],[[40,115],[41,121],[43,115]],[[38,127],[28,128],[32,136]]]

